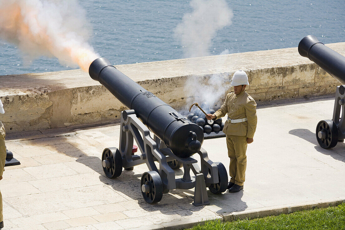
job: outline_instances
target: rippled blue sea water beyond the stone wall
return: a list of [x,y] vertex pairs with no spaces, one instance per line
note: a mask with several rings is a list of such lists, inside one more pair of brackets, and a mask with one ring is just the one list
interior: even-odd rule
[[[297,47],[306,35],[323,43],[345,41],[343,0],[226,0],[232,24],[217,32],[209,47],[214,55]],[[113,64],[183,58],[174,36],[185,13],[186,0],[79,0],[93,28],[90,44]],[[77,13],[77,12],[76,12]],[[56,58],[40,57],[28,66],[20,50],[0,40],[0,75],[70,69]]]

